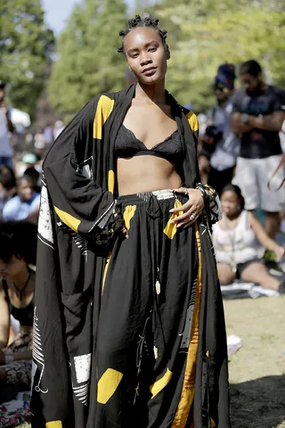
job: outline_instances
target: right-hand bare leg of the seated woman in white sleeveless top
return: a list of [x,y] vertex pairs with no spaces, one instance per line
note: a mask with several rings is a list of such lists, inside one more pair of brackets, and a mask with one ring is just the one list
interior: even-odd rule
[[270,288],[271,290],[278,291],[280,281],[274,276],[269,275],[265,265],[258,261],[250,263],[241,274],[241,279],[247,283],[257,283],[263,288]]

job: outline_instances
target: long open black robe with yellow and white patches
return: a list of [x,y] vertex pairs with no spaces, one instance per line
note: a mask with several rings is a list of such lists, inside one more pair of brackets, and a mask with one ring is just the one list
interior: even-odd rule
[[[114,142],[134,90],[135,86],[130,86],[87,103],[63,130],[44,162],[38,226],[33,428],[108,428],[94,423],[101,405],[96,339],[108,259],[94,253],[92,237],[94,228],[105,226],[116,206]],[[169,94],[167,103],[186,153],[179,172],[184,185],[194,187],[199,182],[198,121]],[[172,403],[175,411],[171,422],[160,428],[230,426],[224,309],[211,241],[202,226],[198,221],[199,284],[191,340],[184,354],[179,396],[175,395]],[[189,272],[197,268],[193,265],[189,259]],[[182,317],[186,322],[185,313]],[[110,376],[109,382],[116,379]]]

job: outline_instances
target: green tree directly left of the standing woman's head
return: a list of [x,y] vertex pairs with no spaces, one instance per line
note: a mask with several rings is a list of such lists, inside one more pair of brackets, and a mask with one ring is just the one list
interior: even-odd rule
[[123,0],[85,0],[77,4],[56,46],[49,100],[69,120],[95,95],[124,87],[126,60],[118,53],[126,28]]

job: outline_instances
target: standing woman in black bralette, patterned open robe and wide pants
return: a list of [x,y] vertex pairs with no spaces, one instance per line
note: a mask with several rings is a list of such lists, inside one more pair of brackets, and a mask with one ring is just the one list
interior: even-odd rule
[[44,162],[32,426],[225,428],[197,119],[165,90],[158,21],[136,16],[120,34],[138,83],[87,103]]

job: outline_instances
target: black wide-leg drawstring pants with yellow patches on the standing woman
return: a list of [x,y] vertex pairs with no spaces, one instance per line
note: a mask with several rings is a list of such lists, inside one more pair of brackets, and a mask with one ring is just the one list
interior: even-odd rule
[[96,428],[172,426],[183,387],[196,277],[194,226],[172,191],[118,198],[128,238],[107,261],[97,332]]

